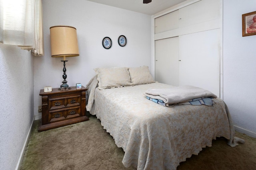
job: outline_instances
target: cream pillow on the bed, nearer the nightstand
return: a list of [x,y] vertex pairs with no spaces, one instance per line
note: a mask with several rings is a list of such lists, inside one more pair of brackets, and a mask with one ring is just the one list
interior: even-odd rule
[[98,88],[100,90],[106,88],[132,86],[128,68],[94,68],[94,70],[97,74],[97,80],[99,81]]

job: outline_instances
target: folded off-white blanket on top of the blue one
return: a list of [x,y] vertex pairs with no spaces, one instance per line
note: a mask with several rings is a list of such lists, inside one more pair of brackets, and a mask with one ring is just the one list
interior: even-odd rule
[[144,93],[152,99],[162,100],[166,104],[177,104],[187,102],[195,98],[212,97],[217,98],[215,94],[195,86],[177,86],[174,88],[149,89]]

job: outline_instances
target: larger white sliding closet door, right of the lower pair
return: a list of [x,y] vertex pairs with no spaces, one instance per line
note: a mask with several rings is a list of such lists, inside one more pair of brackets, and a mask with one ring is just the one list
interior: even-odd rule
[[220,96],[220,29],[179,36],[179,86],[190,84]]

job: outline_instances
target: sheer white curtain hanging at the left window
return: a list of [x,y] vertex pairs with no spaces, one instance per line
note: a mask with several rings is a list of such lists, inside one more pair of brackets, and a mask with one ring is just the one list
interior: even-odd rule
[[42,0],[0,0],[0,43],[44,55]]

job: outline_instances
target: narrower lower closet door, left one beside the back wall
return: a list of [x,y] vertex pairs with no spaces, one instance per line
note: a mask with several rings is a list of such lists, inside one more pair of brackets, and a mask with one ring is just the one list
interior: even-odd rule
[[156,81],[178,86],[178,45],[179,38],[172,37],[155,41]]

